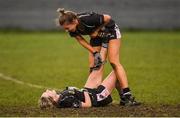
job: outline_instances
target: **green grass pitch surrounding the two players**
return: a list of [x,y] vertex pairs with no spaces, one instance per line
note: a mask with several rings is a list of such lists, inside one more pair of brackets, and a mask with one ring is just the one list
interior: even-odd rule
[[[87,51],[66,33],[0,32],[0,73],[23,82],[52,88],[70,85],[81,88],[88,75],[87,58]],[[161,109],[162,105],[169,105],[175,111],[179,109],[180,32],[123,32],[121,63],[127,71],[133,94],[145,104],[140,110],[147,107],[152,108],[153,112],[155,108]],[[106,76],[111,67],[106,64],[105,68]],[[0,91],[0,116],[53,116],[51,112],[39,114],[41,110],[37,108],[37,101],[43,89],[30,88],[0,78]],[[119,100],[116,91],[113,92],[113,98]],[[117,109],[117,105],[113,108]],[[17,112],[18,109],[22,114]],[[106,112],[109,107],[92,109],[80,116],[92,116],[90,112],[99,110],[105,110],[104,114],[98,115],[95,112],[93,116],[113,116],[105,114],[109,113]],[[71,113],[67,112],[67,116],[77,114],[76,110],[67,111]],[[127,112],[125,115],[114,116],[130,115]],[[146,115],[142,113],[142,116]],[[173,112],[158,116],[173,116]],[[176,116],[180,116],[179,111],[176,111]]]

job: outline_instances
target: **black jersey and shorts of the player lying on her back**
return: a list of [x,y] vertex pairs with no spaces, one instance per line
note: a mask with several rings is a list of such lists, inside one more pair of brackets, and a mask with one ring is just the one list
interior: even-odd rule
[[85,88],[83,90],[68,89],[60,92],[60,98],[57,103],[59,108],[80,108],[81,102],[85,102],[84,92],[88,92],[93,107],[106,106],[112,102],[109,91],[102,85],[97,88]]

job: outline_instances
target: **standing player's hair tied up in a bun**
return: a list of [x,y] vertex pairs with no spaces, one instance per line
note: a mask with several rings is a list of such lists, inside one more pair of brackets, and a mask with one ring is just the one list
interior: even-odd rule
[[72,23],[74,19],[77,19],[77,13],[72,11],[65,11],[64,8],[58,8],[57,12],[60,14],[58,23],[63,25],[64,23]]

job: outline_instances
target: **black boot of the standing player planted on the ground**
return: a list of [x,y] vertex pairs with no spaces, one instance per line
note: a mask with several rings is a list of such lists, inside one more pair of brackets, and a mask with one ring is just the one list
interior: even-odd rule
[[120,101],[121,106],[138,106],[140,104],[141,103],[137,102],[135,100],[135,97],[133,97],[131,94],[121,96],[121,101]]

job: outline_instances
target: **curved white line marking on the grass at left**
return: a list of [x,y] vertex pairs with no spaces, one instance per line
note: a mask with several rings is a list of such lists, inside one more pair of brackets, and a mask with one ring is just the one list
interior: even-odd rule
[[[4,75],[4,74],[2,74],[2,73],[0,73],[0,78],[1,78],[1,79],[4,79],[4,80],[13,81],[14,83],[17,83],[17,84],[26,85],[26,86],[29,86],[29,87],[32,87],[32,88],[38,88],[38,89],[48,89],[48,88],[51,88],[51,87],[45,87],[45,86],[36,85],[36,84],[31,84],[31,83],[25,83],[25,82],[23,82],[23,81],[20,81],[20,80],[15,79],[15,78],[6,76],[6,75]],[[53,88],[53,89],[59,90],[59,89],[57,89],[57,88]]]

